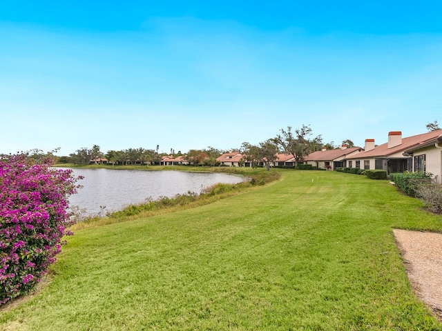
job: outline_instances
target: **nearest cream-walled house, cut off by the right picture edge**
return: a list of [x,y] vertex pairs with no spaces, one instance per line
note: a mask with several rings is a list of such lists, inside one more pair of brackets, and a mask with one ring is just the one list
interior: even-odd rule
[[410,157],[412,171],[431,172],[436,183],[442,183],[442,134],[408,148],[403,154]]

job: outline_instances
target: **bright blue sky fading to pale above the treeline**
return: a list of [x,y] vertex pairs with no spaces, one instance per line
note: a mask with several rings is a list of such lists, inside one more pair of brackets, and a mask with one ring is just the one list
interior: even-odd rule
[[0,1],[0,153],[442,124],[440,1]]

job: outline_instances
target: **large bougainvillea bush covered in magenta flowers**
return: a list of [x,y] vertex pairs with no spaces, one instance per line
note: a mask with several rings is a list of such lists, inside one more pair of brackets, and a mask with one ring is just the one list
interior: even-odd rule
[[28,154],[0,155],[0,305],[30,292],[55,262],[71,225],[71,170]]

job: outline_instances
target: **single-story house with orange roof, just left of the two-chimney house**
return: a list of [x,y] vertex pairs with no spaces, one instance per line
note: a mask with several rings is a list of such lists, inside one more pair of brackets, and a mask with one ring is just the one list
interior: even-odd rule
[[338,167],[345,168],[347,166],[345,158],[362,151],[363,148],[361,147],[347,148],[347,145],[343,145],[335,150],[327,150],[324,147],[322,150],[308,154],[303,161],[319,169],[334,170]]

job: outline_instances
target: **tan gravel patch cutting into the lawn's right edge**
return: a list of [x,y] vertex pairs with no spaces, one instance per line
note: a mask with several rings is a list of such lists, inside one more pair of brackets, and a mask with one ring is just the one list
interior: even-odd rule
[[442,319],[442,234],[393,230],[417,297]]

